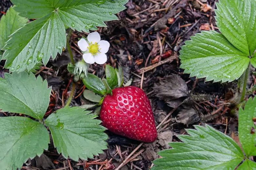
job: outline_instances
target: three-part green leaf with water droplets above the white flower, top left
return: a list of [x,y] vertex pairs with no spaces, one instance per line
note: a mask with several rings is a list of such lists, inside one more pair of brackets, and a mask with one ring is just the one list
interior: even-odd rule
[[38,61],[47,64],[66,46],[65,25],[77,31],[97,30],[128,0],[11,0],[20,16],[38,18],[11,35],[4,47],[6,68],[11,72],[32,69]]

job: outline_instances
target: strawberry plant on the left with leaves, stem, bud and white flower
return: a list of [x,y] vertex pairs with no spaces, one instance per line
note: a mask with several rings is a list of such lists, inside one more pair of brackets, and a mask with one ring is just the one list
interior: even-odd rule
[[115,14],[125,9],[127,0],[11,2],[14,6],[0,21],[0,61],[4,60],[5,69],[12,73],[5,73],[5,78],[0,78],[0,111],[15,116],[5,113],[6,117],[0,117],[1,169],[21,168],[28,159],[48,150],[49,131],[57,152],[66,159],[87,160],[102,153],[107,149],[106,128],[91,111],[69,107],[75,89],[72,89],[66,107],[46,114],[51,87],[33,73],[42,64],[46,65],[51,57],[55,59],[66,46],[72,62],[68,69],[73,69],[71,73],[77,77],[87,75],[88,64],[84,61],[105,63],[109,42],[100,41],[97,32],[80,39],[78,46],[88,41],[89,50],[86,47],[84,59],[75,63],[69,44],[72,30],[89,33],[99,26],[106,26],[105,21],[117,19]]

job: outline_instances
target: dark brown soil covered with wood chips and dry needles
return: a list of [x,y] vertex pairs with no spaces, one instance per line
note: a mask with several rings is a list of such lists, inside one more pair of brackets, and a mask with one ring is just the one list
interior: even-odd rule
[[[10,6],[9,0],[2,0],[1,15]],[[205,123],[237,141],[237,117],[230,114],[236,82],[205,82],[179,69],[179,50],[190,36],[202,30],[218,31],[214,19],[215,0],[129,0],[126,7],[117,15],[119,21],[107,22],[108,27],[99,28],[98,32],[111,44],[107,64],[121,65],[125,82],[132,78],[132,85],[142,87],[147,93],[159,127],[157,141],[141,145],[107,131],[108,149],[95,159],[66,160],[51,143],[49,151],[40,158],[29,160],[22,169],[111,170],[125,162],[135,150],[121,170],[147,170],[152,167],[151,161],[158,158],[157,152],[169,148],[169,142],[179,141],[177,136],[185,134],[185,128]],[[77,41],[82,36],[86,34],[72,33],[75,60],[81,59]],[[69,97],[73,77],[67,71],[68,56],[63,51],[36,73],[53,87],[46,116],[62,108]],[[0,73],[8,72],[3,65],[4,61],[0,64]],[[104,66],[93,64],[89,72],[103,77]],[[250,85],[254,85],[255,77],[251,79]],[[83,90],[82,82],[77,82],[73,106],[88,102],[81,95]],[[0,112],[1,115],[4,116]]]

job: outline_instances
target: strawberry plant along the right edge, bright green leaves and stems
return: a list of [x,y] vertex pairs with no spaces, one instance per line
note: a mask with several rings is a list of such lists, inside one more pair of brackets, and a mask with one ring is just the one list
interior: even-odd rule
[[[206,81],[230,82],[239,79],[237,107],[243,106],[250,65],[256,67],[256,1],[219,0],[216,3],[217,26],[221,33],[203,31],[181,47],[184,73]],[[249,98],[239,109],[239,140],[206,125],[187,129],[179,135],[183,142],[170,143],[160,151],[152,170],[171,169],[256,169],[256,99]]]

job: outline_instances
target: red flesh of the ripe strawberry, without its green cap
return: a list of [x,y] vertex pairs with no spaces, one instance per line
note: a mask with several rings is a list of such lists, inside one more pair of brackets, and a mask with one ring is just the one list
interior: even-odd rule
[[116,88],[103,100],[100,119],[111,132],[142,142],[154,142],[157,129],[153,111],[143,90]]

